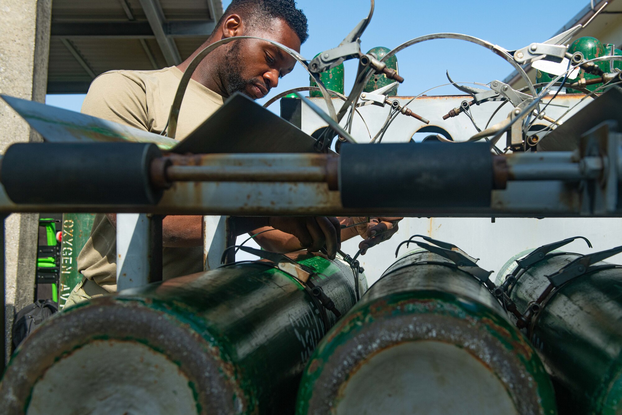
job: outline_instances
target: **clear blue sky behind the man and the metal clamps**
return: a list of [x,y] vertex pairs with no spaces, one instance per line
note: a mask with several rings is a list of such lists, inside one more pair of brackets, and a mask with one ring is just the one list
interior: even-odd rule
[[[230,1],[223,1],[227,6]],[[322,50],[336,47],[368,13],[366,0],[299,0],[309,18],[309,40],[302,55],[312,58]],[[531,42],[549,39],[564,26],[586,0],[376,0],[371,24],[361,39],[363,52],[375,46],[393,48],[414,37],[437,32],[458,32],[480,37],[506,49],[518,49]],[[435,40],[414,45],[397,55],[400,74],[406,79],[399,95],[417,95],[447,83],[445,70],[457,82],[488,83],[503,79],[512,67],[478,45],[463,41]],[[126,69],[126,68],[119,68]],[[354,82],[356,63],[346,62],[346,92]],[[309,75],[300,65],[281,79],[269,97],[284,90],[309,85]],[[439,88],[429,95],[456,93],[453,87]],[[47,103],[80,110],[84,95],[48,95]]]

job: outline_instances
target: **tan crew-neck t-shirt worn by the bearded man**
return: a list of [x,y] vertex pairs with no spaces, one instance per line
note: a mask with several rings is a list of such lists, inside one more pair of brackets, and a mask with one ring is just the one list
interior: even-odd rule
[[[82,112],[141,130],[161,133],[169,118],[182,71],[113,70],[101,74],[86,94]],[[183,97],[177,140],[190,134],[223,105],[223,97],[190,80]],[[162,249],[164,279],[203,270],[203,247]],[[116,292],[116,230],[97,214],[91,235],[78,255],[78,271],[108,292]]]

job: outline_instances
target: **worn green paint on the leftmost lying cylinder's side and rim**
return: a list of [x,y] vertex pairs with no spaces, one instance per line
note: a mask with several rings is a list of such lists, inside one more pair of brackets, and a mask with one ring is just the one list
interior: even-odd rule
[[[313,283],[322,287],[341,313],[345,314],[352,307],[355,303],[354,277],[349,265],[309,254],[301,254],[296,260],[315,271]],[[360,281],[361,291],[364,292],[367,288],[364,276]],[[202,354],[213,357],[220,373],[214,374],[214,378],[226,379],[227,384],[234,385],[234,393],[225,399],[235,403],[233,408],[240,408],[231,413],[240,415],[292,413],[300,373],[313,348],[325,334],[317,306],[309,293],[293,277],[267,263],[232,264],[210,272],[125,290],[114,297],[94,298],[59,313],[37,333],[39,336],[44,336],[46,332],[59,335],[54,325],[66,318],[80,318],[90,310],[100,309],[103,304],[114,307],[116,312],[127,313],[124,315],[146,312],[155,316],[150,317],[151,322],[154,318],[164,319],[196,339],[188,343],[188,347],[192,350],[199,348],[204,350]],[[327,316],[330,327],[336,318],[330,312]],[[159,336],[166,333],[157,330],[135,333],[132,330],[131,335],[121,336],[114,332],[118,323],[111,321],[103,324],[106,330],[89,338],[80,338],[78,345],[85,345],[95,337],[97,340],[137,341],[163,353],[180,370],[188,370],[188,361],[155,344]],[[78,336],[79,333],[80,330],[77,330],[73,335]],[[32,341],[16,351],[7,366],[11,380],[7,381],[5,375],[4,381],[14,383],[16,378],[24,379],[21,374],[15,374],[23,370],[16,361],[22,362],[22,367],[25,360],[30,362],[29,365],[37,365],[36,361],[29,360],[32,356],[32,350],[28,349],[30,344]],[[50,344],[55,343],[52,341]],[[72,348],[50,348],[39,353],[53,355],[60,360],[71,351]],[[40,370],[43,373],[45,368]],[[32,386],[34,384],[30,388]],[[198,388],[197,385],[192,387],[193,390]],[[6,389],[2,391],[0,386],[0,399],[5,392]],[[202,396],[206,393],[197,391]],[[200,403],[198,395],[197,403]],[[206,409],[199,408],[199,411],[205,413]]]

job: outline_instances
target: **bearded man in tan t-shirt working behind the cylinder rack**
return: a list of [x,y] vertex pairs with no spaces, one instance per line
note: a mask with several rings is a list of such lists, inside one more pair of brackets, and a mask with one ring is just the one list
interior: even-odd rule
[[[185,62],[160,70],[113,70],[97,77],[82,112],[95,117],[162,133],[177,85],[193,57],[207,45],[233,36],[256,36],[300,51],[307,39],[307,18],[294,0],[233,0],[209,39]],[[295,60],[266,41],[244,39],[222,45],[195,70],[185,92],[177,126],[181,140],[223,105],[234,92],[262,98],[294,69]],[[207,138],[208,139],[208,138]],[[291,252],[327,247],[333,259],[341,239],[360,234],[361,249],[397,231],[400,218],[374,218],[369,224],[340,230],[358,218],[264,217],[248,220],[243,233],[277,229],[257,238],[265,249]],[[163,277],[203,270],[202,216],[166,216],[163,221]],[[116,291],[116,214],[98,214],[91,236],[78,257],[84,275],[65,305]]]

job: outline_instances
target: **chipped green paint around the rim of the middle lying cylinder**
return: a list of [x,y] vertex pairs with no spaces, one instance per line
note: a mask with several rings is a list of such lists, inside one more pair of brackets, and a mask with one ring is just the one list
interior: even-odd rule
[[[391,279],[396,274],[391,275],[392,269],[399,273],[397,267],[400,261],[415,255],[432,255],[428,259],[447,262],[438,255],[430,254],[423,250],[415,250],[402,255],[396,264],[389,267],[384,273],[381,280],[371,287],[366,295],[361,298],[355,307],[353,307],[347,315],[341,318],[322,339],[317,348],[313,352],[307,367],[303,373],[300,383],[299,395],[296,406],[297,415],[307,415],[310,412],[310,400],[313,398],[314,388],[319,383],[318,379],[323,374],[325,367],[331,360],[333,355],[337,355],[337,351],[345,348],[348,344],[356,344],[361,341],[361,333],[371,323],[388,322],[389,318],[396,316],[412,315],[418,318],[423,315],[447,316],[465,320],[470,322],[473,327],[478,327],[482,333],[487,333],[499,341],[499,344],[508,350],[513,356],[516,356],[525,371],[531,376],[531,382],[536,384],[536,394],[539,400],[539,408],[541,414],[553,415],[557,414],[555,405],[555,395],[550,383],[550,379],[541,360],[532,349],[527,339],[514,327],[514,325],[506,318],[503,309],[498,303],[496,307],[491,307],[493,303],[487,303],[493,298],[486,298],[485,302],[473,299],[471,295],[462,295],[457,292],[442,292],[439,290],[417,289],[416,279],[414,275],[406,275],[406,279],[394,279],[393,282],[384,281],[383,279]],[[421,258],[419,258],[421,259]],[[403,265],[403,262],[402,262]],[[415,265],[416,266],[416,265]],[[448,275],[449,284],[452,278],[460,278],[458,275],[462,272],[454,272],[454,275]],[[397,274],[399,276],[399,274]],[[440,277],[434,273],[432,279]],[[447,276],[446,276],[447,277]],[[409,280],[408,278],[412,278]],[[470,278],[465,277],[462,278]],[[473,279],[474,280],[474,279]],[[389,283],[388,287],[383,286]],[[386,284],[385,284],[386,285]],[[409,287],[409,285],[411,285]],[[475,283],[478,286],[479,283]],[[447,285],[449,287],[449,285]],[[456,289],[457,287],[452,287]],[[459,291],[459,289],[457,290]],[[466,294],[467,292],[465,292]],[[413,320],[415,321],[415,320]],[[455,345],[463,348],[460,341],[456,341]],[[334,362],[333,362],[334,364]],[[330,371],[327,372],[328,376]],[[350,378],[351,374],[346,374],[345,381]],[[501,375],[498,375],[501,376]],[[326,381],[326,379],[324,379]],[[334,379],[335,382],[341,382],[340,379]],[[345,383],[344,381],[344,383]],[[511,394],[511,391],[508,391]]]

